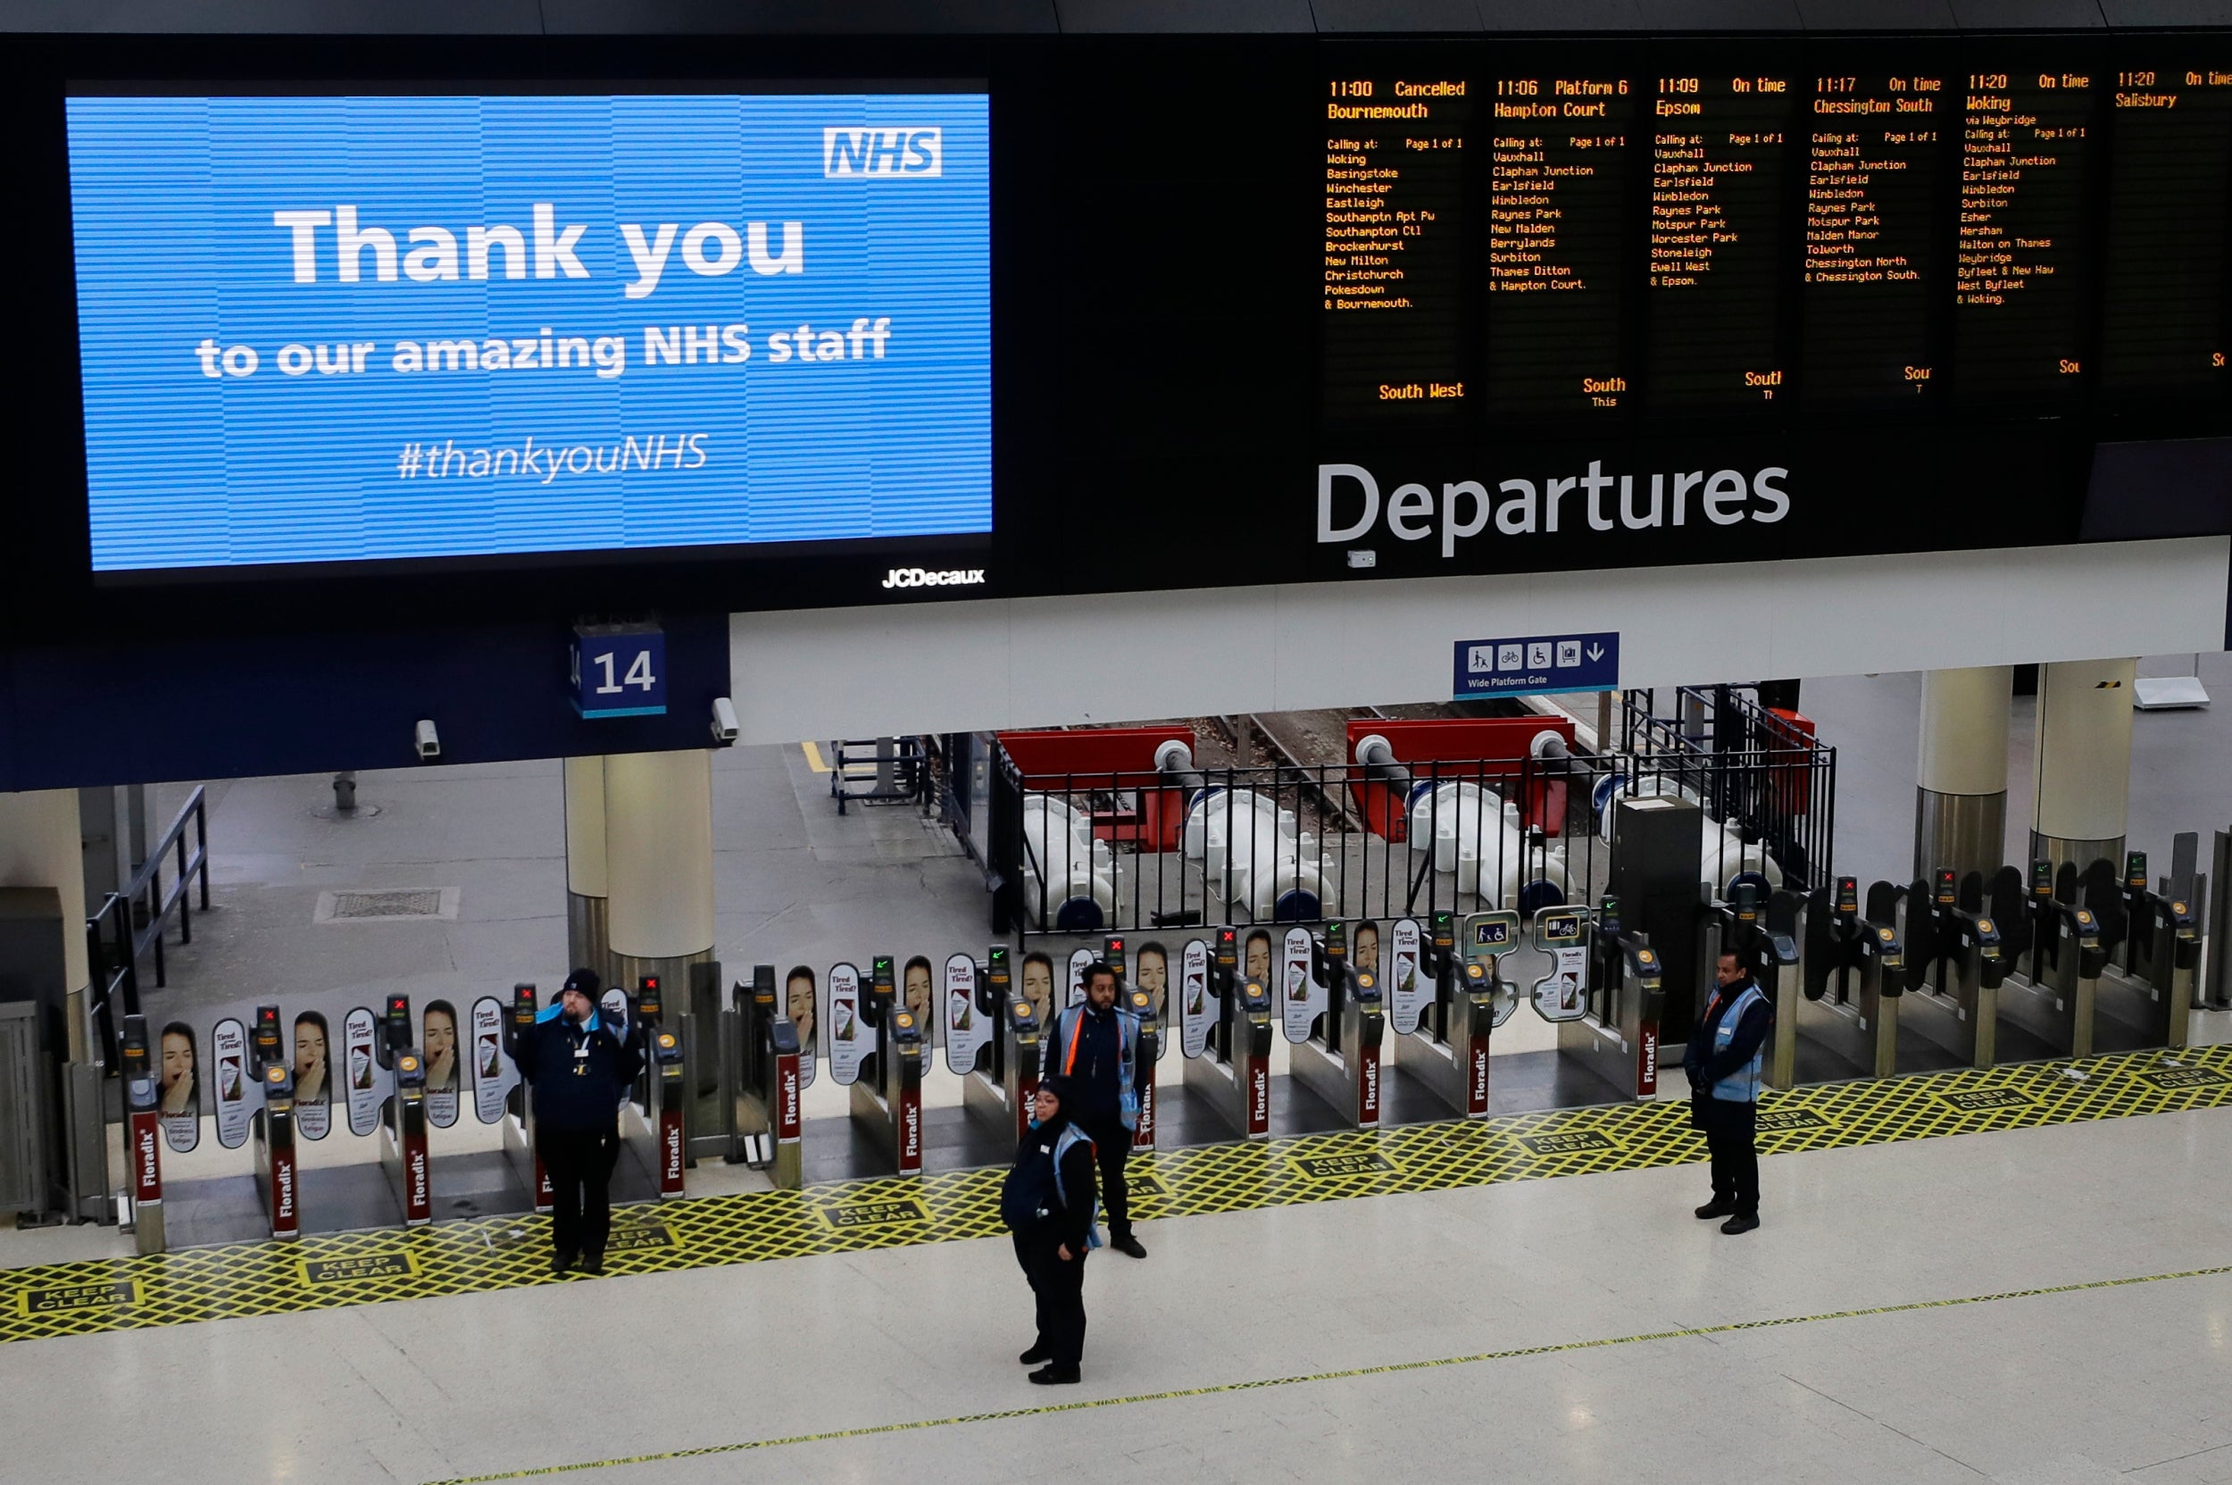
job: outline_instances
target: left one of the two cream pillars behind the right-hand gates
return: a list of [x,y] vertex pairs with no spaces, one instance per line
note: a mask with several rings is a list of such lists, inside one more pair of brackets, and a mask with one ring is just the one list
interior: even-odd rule
[[1942,866],[1991,880],[2007,864],[2007,701],[2013,668],[1922,674],[1915,880]]

